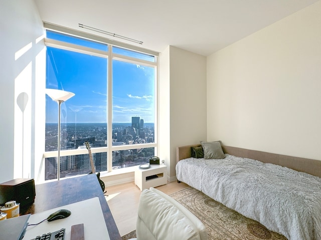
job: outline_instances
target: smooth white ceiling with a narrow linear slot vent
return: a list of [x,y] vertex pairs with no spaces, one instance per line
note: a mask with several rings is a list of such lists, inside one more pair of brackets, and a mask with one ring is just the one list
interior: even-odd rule
[[[35,0],[43,21],[162,52],[208,56],[317,0]],[[133,43],[78,23],[142,41]]]

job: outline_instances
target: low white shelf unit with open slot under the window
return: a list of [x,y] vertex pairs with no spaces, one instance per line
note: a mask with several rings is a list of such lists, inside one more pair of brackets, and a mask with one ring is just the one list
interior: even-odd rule
[[[146,177],[153,175],[157,175],[157,177],[146,179]],[[151,186],[155,187],[167,184],[167,166],[164,164],[151,164],[150,168],[147,169],[140,169],[137,166],[135,169],[135,184],[141,191]]]

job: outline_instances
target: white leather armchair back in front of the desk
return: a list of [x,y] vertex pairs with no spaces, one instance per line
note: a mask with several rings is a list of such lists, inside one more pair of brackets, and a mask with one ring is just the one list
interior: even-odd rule
[[141,192],[137,240],[207,240],[204,224],[175,199],[153,187]]

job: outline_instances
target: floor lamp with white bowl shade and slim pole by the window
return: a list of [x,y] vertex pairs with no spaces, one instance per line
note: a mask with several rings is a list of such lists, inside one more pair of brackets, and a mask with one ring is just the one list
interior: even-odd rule
[[46,93],[54,101],[58,103],[58,161],[57,161],[57,178],[60,179],[60,109],[61,103],[68,100],[70,97],[74,96],[75,93],[70,91],[63,91],[58,89],[47,88]]

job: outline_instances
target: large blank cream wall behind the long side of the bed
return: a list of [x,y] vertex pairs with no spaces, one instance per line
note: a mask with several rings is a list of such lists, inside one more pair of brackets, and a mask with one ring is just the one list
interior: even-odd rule
[[321,160],[321,2],[207,58],[208,140]]

